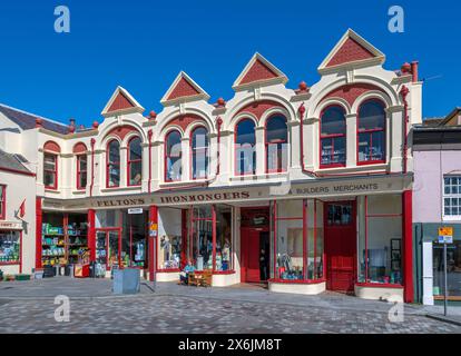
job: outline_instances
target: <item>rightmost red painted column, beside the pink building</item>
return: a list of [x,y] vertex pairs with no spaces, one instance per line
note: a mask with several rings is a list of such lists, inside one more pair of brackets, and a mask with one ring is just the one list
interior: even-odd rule
[[413,192],[405,190],[402,195],[403,212],[403,286],[405,303],[413,303]]

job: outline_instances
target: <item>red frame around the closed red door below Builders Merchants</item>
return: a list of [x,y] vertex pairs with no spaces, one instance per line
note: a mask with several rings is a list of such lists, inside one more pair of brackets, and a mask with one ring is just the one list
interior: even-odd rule
[[[346,225],[347,227],[353,227],[354,228],[354,254],[353,254],[353,264],[352,264],[352,268],[353,268],[353,284],[355,284],[356,279],[357,279],[357,244],[356,244],[356,236],[357,236],[357,201],[355,200],[342,200],[342,201],[324,201],[324,210],[323,210],[323,226],[324,226],[324,277],[326,280],[326,286],[327,289],[331,290],[328,288],[328,284],[330,284],[330,266],[328,266],[328,224],[327,224],[327,219],[328,219],[328,206],[330,205],[341,205],[341,204],[351,204],[352,205],[352,222],[351,225]],[[343,226],[340,226],[339,228],[341,228]],[[330,227],[331,228],[331,227]],[[334,227],[333,227],[334,228]]]

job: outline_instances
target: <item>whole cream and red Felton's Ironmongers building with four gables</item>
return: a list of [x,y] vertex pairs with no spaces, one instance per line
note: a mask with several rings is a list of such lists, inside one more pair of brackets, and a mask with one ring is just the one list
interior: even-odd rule
[[347,30],[311,87],[287,87],[255,53],[228,100],[210,103],[182,71],[158,113],[118,87],[91,128],[8,130],[37,167],[36,267],[75,264],[85,247],[107,275],[176,280],[190,261],[214,286],[412,301],[409,137],[422,83],[416,62],[384,61]]

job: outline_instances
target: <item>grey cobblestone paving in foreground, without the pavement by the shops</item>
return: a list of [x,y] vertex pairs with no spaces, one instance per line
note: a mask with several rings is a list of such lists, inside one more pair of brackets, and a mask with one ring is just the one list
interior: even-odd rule
[[53,298],[3,299],[0,333],[461,333],[461,327],[405,314],[332,309],[206,297],[141,295],[71,299],[70,322],[53,318]]

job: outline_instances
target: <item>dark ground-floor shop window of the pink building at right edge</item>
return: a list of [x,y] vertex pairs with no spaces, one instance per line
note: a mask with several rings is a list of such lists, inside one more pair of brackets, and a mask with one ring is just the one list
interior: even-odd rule
[[[433,244],[433,294],[444,295],[443,245]],[[447,279],[449,297],[461,297],[461,240],[447,245]]]

